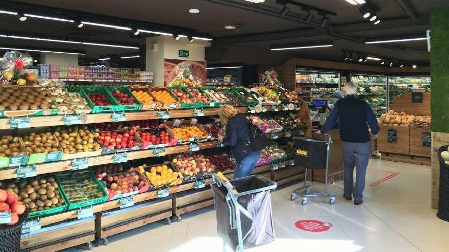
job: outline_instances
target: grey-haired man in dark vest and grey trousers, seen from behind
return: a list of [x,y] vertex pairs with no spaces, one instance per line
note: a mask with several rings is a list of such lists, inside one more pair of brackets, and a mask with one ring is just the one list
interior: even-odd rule
[[[352,83],[345,86],[346,97],[335,103],[325,125],[322,126],[319,134],[326,133],[332,129],[339,119],[340,138],[343,149],[344,164],[344,198],[352,200],[354,204],[360,205],[363,202],[363,190],[365,189],[366,168],[370,156],[370,133],[376,139],[379,133],[377,119],[371,107],[365,101],[356,98],[356,87]],[[354,166],[356,167],[356,183],[353,182]]]

